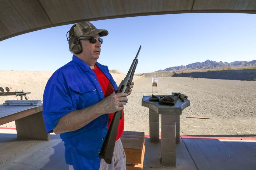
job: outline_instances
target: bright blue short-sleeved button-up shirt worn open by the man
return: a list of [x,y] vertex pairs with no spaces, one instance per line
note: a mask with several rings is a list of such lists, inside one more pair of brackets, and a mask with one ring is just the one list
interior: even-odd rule
[[[96,63],[117,90],[107,66]],[[73,110],[80,110],[104,99],[94,71],[76,56],[55,71],[48,80],[43,96],[43,117],[47,133],[59,119]],[[74,122],[75,123],[75,122]],[[98,170],[101,159],[98,154],[108,130],[108,114],[101,115],[76,131],[60,134],[65,145],[66,163],[76,170]]]

